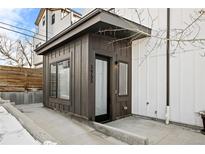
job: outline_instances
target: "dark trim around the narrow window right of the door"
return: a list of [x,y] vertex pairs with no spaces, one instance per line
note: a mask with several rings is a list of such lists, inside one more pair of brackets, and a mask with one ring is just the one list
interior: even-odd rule
[[[120,63],[124,63],[124,64],[127,64],[127,94],[126,95],[122,95],[122,94],[119,94],[119,87],[120,87]],[[118,94],[118,96],[119,97],[125,97],[125,96],[129,96],[129,63],[128,62],[126,62],[126,61],[123,61],[123,60],[119,60],[118,62],[117,62],[117,65],[118,65],[118,73],[117,73],[117,75],[118,75],[118,92],[117,92],[117,94]]]

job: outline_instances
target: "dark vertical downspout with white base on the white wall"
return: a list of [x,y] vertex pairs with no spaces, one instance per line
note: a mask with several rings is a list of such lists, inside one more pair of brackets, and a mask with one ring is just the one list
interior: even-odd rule
[[167,42],[166,42],[166,114],[165,123],[169,124],[170,119],[170,8],[167,8]]

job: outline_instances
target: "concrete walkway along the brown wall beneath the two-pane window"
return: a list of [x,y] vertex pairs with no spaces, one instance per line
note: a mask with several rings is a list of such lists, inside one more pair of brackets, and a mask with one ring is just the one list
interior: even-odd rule
[[62,144],[125,144],[56,111],[44,108],[42,104],[16,105],[16,108]]

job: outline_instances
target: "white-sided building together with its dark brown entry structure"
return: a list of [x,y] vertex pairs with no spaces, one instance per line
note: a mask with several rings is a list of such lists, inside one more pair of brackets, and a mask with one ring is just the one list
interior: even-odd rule
[[[65,35],[37,48],[46,69],[44,105],[97,121],[137,114],[202,126],[204,45],[189,41],[178,46],[166,39],[169,26],[170,38],[177,39],[183,29],[188,29],[183,40],[196,34],[205,38],[204,20],[188,26],[200,9],[170,9],[170,24],[167,9],[107,10],[120,16],[87,9],[89,14]],[[69,60],[58,62],[64,59]],[[63,72],[67,80],[57,78]]]

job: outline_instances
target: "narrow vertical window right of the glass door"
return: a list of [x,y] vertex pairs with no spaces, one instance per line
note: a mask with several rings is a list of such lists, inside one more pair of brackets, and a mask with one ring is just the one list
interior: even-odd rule
[[128,64],[119,63],[119,95],[128,94]]

